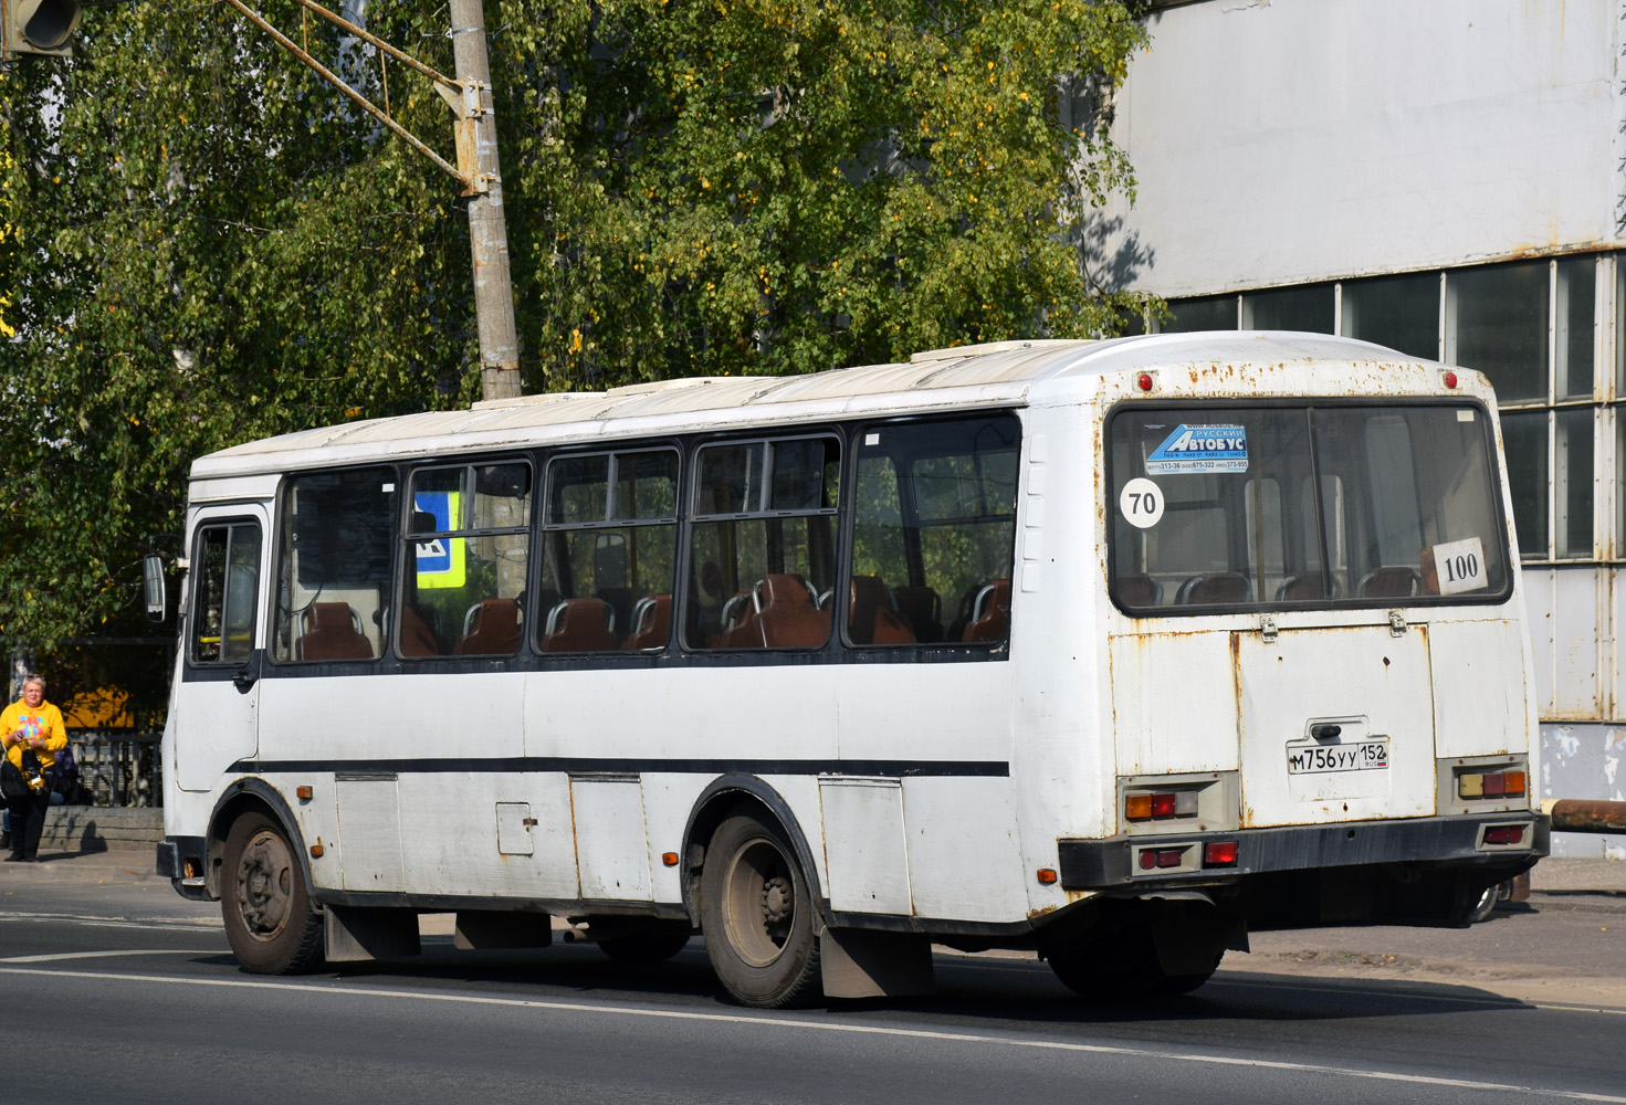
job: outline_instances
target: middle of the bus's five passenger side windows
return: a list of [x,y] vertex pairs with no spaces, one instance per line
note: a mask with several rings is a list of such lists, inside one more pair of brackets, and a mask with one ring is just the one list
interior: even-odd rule
[[676,518],[675,448],[556,457],[541,523],[537,650],[665,648]]

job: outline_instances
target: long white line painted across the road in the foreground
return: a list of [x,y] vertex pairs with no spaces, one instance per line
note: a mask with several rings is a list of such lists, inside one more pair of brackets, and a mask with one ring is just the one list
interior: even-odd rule
[[933,1029],[888,1029],[873,1024],[837,1024],[828,1020],[800,1020],[795,1017],[777,1017],[772,1014],[743,1012],[689,1012],[683,1009],[642,1009],[634,1006],[592,1004],[585,1001],[537,1001],[527,998],[481,998],[478,994],[442,994],[403,990],[382,990],[377,986],[315,986],[296,982],[270,982],[249,978],[174,978],[169,975],[124,975],[96,970],[47,970],[39,967],[0,967],[0,975],[37,975],[46,978],[99,978],[106,982],[140,982],[171,983],[179,986],[226,986],[226,988],[267,988],[294,993],[346,994],[356,998],[397,998],[408,1001],[439,1001],[449,1004],[470,1006],[502,1006],[511,1009],[548,1009],[553,1012],[597,1012],[620,1017],[655,1017],[663,1020],[701,1020],[709,1024],[743,1024],[766,1029],[802,1029],[806,1032],[850,1032],[855,1035],[878,1035],[909,1040],[933,1040],[948,1043],[985,1043],[992,1046],[1034,1048],[1041,1051],[1070,1051],[1075,1055],[1114,1055],[1137,1060],[1158,1060],[1176,1063],[1197,1063],[1210,1066],[1237,1066],[1260,1071],[1294,1071],[1301,1074],[1330,1074],[1335,1077],[1354,1077],[1376,1082],[1408,1082],[1413,1086],[1442,1086],[1465,1090],[1494,1090],[1501,1094],[1533,1094],[1567,1102],[1603,1102],[1603,1105],[1626,1105],[1626,1097],[1610,1094],[1585,1094],[1580,1090],[1554,1090],[1535,1086],[1511,1086],[1502,1082],[1475,1082],[1468,1079],[1434,1077],[1428,1074],[1400,1074],[1392,1071],[1358,1071],[1341,1066],[1322,1066],[1319,1063],[1286,1063],[1273,1060],[1244,1060],[1223,1055],[1202,1055],[1197,1051],[1154,1051],[1151,1048],[1127,1048],[1104,1043],[1067,1043],[1063,1040],[1021,1040],[1010,1037],[984,1035],[977,1032],[940,1032]]

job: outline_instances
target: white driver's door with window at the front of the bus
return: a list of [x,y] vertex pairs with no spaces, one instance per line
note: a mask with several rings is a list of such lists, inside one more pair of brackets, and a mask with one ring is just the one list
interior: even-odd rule
[[259,751],[265,619],[265,510],[210,507],[193,515],[185,588],[184,658],[176,717],[182,790],[210,790]]

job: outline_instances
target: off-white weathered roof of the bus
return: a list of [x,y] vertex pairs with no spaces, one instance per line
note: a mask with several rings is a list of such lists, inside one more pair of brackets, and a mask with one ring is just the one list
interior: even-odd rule
[[322,426],[208,453],[193,462],[192,478],[324,468],[447,450],[728,429],[766,419],[811,422],[891,411],[1020,406],[1044,400],[1050,387],[1060,392],[1062,382],[1109,372],[1311,361],[1369,367],[1421,362],[1354,338],[1273,330],[998,341],[917,353],[907,364],[810,375],[659,380]]

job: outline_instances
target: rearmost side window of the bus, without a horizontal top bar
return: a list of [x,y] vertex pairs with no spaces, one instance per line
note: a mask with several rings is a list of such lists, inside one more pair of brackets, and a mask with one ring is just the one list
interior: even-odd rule
[[1018,444],[1010,416],[860,431],[847,644],[1005,640]]

